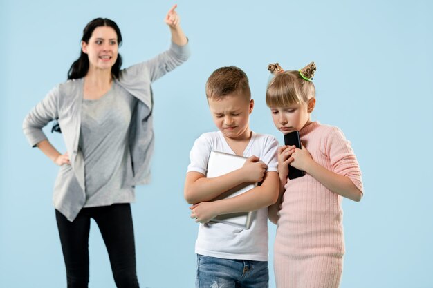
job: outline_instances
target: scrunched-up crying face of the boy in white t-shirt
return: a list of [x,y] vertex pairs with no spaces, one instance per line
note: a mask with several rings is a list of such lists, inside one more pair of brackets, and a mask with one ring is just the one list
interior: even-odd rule
[[223,99],[208,99],[210,113],[216,127],[225,137],[243,140],[250,137],[250,113],[254,101],[243,95],[229,94]]

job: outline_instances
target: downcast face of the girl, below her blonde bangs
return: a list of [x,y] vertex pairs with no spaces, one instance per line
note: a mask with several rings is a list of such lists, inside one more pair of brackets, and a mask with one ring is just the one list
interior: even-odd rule
[[270,107],[275,127],[282,133],[300,131],[304,126],[311,123],[310,114],[315,106],[315,99],[311,98],[308,103],[292,104],[287,107]]

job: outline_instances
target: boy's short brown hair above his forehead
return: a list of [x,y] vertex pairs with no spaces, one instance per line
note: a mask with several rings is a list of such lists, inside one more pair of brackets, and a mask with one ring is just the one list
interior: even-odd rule
[[243,95],[248,100],[251,99],[251,90],[246,73],[236,66],[221,67],[214,70],[206,82],[206,97],[220,100],[226,95],[234,93]]

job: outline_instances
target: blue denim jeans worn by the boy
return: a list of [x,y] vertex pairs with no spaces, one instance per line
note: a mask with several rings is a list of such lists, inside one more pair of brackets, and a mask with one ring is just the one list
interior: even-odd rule
[[268,288],[267,261],[197,255],[196,288]]

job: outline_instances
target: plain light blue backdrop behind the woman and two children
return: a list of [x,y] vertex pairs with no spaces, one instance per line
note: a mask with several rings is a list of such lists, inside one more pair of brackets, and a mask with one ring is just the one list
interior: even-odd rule
[[[141,287],[194,287],[197,225],[183,180],[194,139],[214,130],[207,77],[219,66],[243,68],[256,104],[252,128],[282,140],[264,102],[274,61],[293,69],[316,62],[313,119],[342,128],[363,171],[365,197],[343,204],[341,287],[433,287],[432,2],[266,2],[178,1],[192,57],[154,84],[153,182],[138,187],[132,206]],[[163,18],[172,4],[1,1],[0,287],[66,287],[51,204],[57,167],[28,146],[24,116],[66,79],[88,21],[118,23],[126,67],[168,48]],[[49,137],[64,151],[60,135]],[[270,271],[274,236],[270,224]],[[94,223],[89,246],[89,287],[115,287]]]

